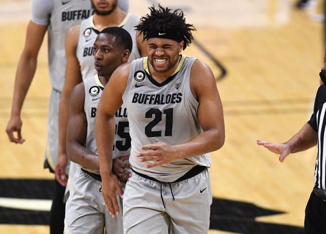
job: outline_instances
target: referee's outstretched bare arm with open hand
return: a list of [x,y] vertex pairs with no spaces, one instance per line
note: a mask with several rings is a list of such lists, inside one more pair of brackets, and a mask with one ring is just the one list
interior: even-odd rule
[[285,143],[273,143],[265,140],[257,140],[273,153],[280,154],[279,160],[283,162],[290,153],[296,153],[309,149],[317,144],[318,133],[309,125],[305,124],[302,129]]

